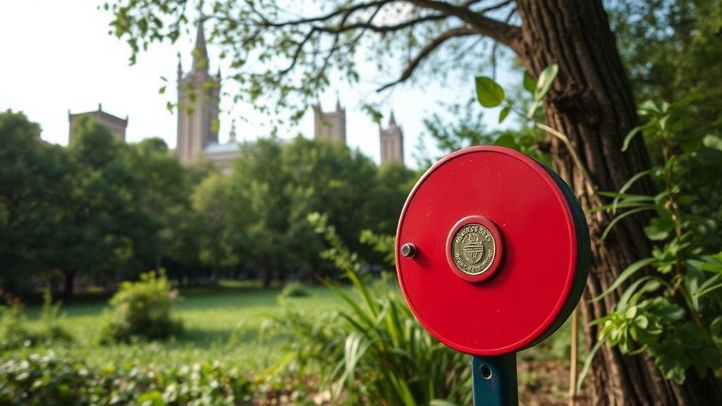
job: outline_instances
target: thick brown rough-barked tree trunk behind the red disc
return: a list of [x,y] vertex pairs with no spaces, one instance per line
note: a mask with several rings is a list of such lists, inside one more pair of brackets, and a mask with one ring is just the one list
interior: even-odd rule
[[[531,74],[539,75],[558,64],[557,81],[547,95],[549,126],[570,138],[599,191],[616,191],[635,173],[649,168],[644,144],[637,137],[622,153],[622,140],[638,125],[635,101],[617,52],[609,20],[599,0],[518,0],[522,19],[520,58]],[[599,204],[584,185],[562,142],[552,138],[554,169],[570,183],[584,209]],[[649,181],[639,181],[635,192],[651,194]],[[643,227],[648,217],[627,217],[606,241],[601,233],[610,217],[587,215],[592,238],[592,269],[580,305],[584,315],[586,347],[597,340],[599,327],[588,322],[612,311],[617,293],[604,301],[588,299],[608,288],[622,269],[648,256],[651,244]],[[712,377],[700,379],[693,371],[683,385],[664,379],[643,356],[622,355],[603,346],[591,366],[586,387],[594,405],[721,405],[722,391]]]

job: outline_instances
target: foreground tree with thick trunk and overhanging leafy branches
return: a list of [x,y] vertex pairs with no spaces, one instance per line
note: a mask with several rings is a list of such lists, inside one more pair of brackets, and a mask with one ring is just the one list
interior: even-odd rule
[[[329,85],[329,72],[340,72],[351,82],[359,79],[357,52],[378,56],[381,72],[394,72],[397,56],[411,55],[401,72],[380,87],[383,90],[419,74],[422,64],[433,66],[438,62],[435,56],[448,56],[443,49],[453,54],[455,49],[473,46],[470,41],[491,38],[510,49],[533,77],[558,64],[557,81],[545,98],[545,118],[549,126],[567,134],[585,168],[575,165],[565,144],[556,138],[551,139],[552,163],[585,209],[601,204],[587,181],[599,190],[619,190],[632,175],[650,166],[640,139],[627,152],[621,151],[638,117],[601,0],[323,1],[316,12],[271,0],[205,4],[213,25],[212,41],[232,59],[230,77],[242,89],[235,99],[261,110],[290,109],[292,117],[299,117]],[[186,1],[118,0],[113,27],[135,56],[149,42],[177,39],[187,21],[185,7]],[[474,57],[471,52],[461,53],[453,66],[468,69],[464,61]],[[591,179],[585,179],[584,173]],[[641,181],[632,192],[651,194],[653,189],[651,182]],[[586,298],[609,288],[622,269],[651,250],[643,233],[647,217],[626,217],[603,242],[600,236],[610,219],[603,212],[588,216],[593,269]],[[586,320],[608,314],[620,292],[605,301],[583,302]],[[591,347],[598,327],[587,324],[586,331]],[[604,347],[591,377],[591,395],[598,404],[722,402],[722,390],[713,378],[690,375],[683,385],[674,384],[648,358],[622,355],[614,348]]]

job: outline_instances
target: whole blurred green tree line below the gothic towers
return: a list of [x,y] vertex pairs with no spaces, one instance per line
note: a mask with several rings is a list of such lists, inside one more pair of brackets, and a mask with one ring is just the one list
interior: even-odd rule
[[324,212],[371,264],[362,230],[391,234],[417,175],[378,168],[342,144],[297,137],[245,144],[229,175],[183,167],[161,139],[124,144],[82,121],[68,147],[40,139],[22,113],[0,113],[0,282],[72,295],[165,267],[181,282],[328,275],[306,221]]

